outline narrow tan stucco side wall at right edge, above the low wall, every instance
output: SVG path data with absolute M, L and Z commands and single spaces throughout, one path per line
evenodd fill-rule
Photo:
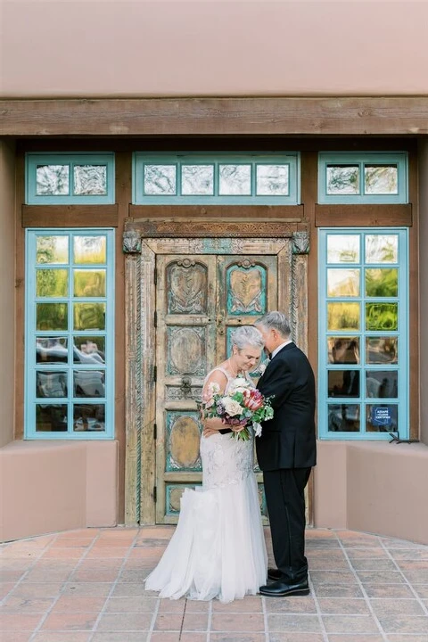
M 419 142 L 419 314 L 421 391 L 428 390 L 428 141 Z M 421 440 L 428 446 L 428 395 L 421 394 Z

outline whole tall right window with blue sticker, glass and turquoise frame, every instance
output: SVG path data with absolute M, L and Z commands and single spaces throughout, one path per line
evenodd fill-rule
M 319 435 L 407 438 L 407 230 L 319 230 L 319 260 Z

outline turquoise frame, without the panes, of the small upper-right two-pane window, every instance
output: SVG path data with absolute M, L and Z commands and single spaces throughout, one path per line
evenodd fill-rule
M 365 194 L 364 166 L 365 165 L 397 165 L 398 193 L 396 194 Z M 327 166 L 328 165 L 358 165 L 359 192 L 358 194 L 328 194 Z M 408 161 L 407 152 L 320 152 L 318 154 L 318 203 L 320 204 L 388 204 L 408 202 Z

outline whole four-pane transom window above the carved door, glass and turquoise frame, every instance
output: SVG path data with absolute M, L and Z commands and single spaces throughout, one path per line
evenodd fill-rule
M 134 203 L 299 202 L 299 156 L 136 152 Z

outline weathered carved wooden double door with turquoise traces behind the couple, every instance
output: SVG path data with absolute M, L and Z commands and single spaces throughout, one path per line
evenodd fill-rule
M 229 354 L 237 326 L 277 308 L 277 260 L 276 254 L 156 257 L 158 523 L 176 523 L 183 490 L 202 481 L 196 402 L 203 380 Z

